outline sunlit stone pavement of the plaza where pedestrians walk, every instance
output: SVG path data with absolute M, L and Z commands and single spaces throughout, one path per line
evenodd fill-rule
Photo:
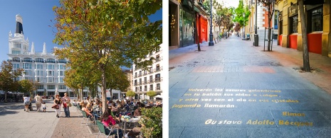
M 57 118 L 51 108 L 53 100 L 45 102 L 46 113 L 37 113 L 34 103 L 34 110 L 29 113 L 23 111 L 23 103 L 0 103 L 0 137 L 97 137 L 81 124 L 82 117 L 78 117 L 75 107 L 70 110 L 70 118 Z M 61 116 L 64 116 L 63 112 Z

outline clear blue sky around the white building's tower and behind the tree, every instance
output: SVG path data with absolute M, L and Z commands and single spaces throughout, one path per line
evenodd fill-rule
M 10 0 L 0 4 L 0 61 L 8 59 L 9 31 L 14 35 L 16 30 L 16 14 L 23 18 L 24 38 L 29 40 L 29 51 L 34 42 L 35 51 L 43 51 L 43 42 L 46 42 L 47 52 L 53 52 L 53 47 L 61 47 L 53 43 L 53 6 L 59 6 L 55 0 Z M 162 9 L 150 16 L 151 21 L 162 20 Z M 50 27 L 51 26 L 51 27 Z

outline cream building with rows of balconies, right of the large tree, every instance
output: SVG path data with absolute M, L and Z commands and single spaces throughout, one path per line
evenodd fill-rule
M 143 60 L 149 60 L 154 57 L 152 66 L 149 66 L 147 70 L 138 69 L 135 64 L 133 64 L 133 80 L 132 84 L 134 91 L 136 93 L 136 98 L 139 99 L 149 99 L 147 96 L 147 91 L 155 91 L 157 95 L 162 95 L 162 47 L 156 52 L 151 52 L 145 56 Z

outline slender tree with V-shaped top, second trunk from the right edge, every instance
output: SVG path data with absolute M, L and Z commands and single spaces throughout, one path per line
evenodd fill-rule
M 258 0 L 268 11 L 268 51 L 270 51 L 271 47 L 271 21 L 273 20 L 273 13 L 275 11 L 275 1 L 276 0 Z

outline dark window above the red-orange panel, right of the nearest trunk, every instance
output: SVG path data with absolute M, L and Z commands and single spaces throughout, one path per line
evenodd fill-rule
M 323 31 L 323 7 L 308 11 L 308 31 Z

